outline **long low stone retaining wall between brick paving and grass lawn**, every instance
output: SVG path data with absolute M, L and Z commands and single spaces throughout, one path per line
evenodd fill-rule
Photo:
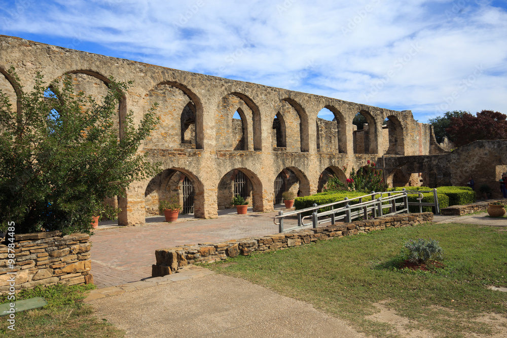
M 309 244 L 318 240 L 369 233 L 387 228 L 415 226 L 429 222 L 433 213 L 412 213 L 387 216 L 377 219 L 355 221 L 317 229 L 306 229 L 259 238 L 245 238 L 218 244 L 202 243 L 184 245 L 155 251 L 157 264 L 152 266 L 152 277 L 162 277 L 176 272 L 179 268 L 195 262 L 213 262 L 240 254 L 249 255 L 253 251 L 270 252 L 287 247 Z

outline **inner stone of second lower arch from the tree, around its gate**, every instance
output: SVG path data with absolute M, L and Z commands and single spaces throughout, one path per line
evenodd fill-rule
M 247 196 L 246 200 L 252 205 L 253 211 L 263 211 L 262 182 L 251 170 L 246 168 L 235 168 L 222 176 L 216 192 L 217 208 L 232 208 L 231 201 L 234 197 L 234 181 L 237 175 L 243 174 L 246 178 Z

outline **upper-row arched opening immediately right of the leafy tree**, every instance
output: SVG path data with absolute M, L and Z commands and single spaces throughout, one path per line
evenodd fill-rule
M 186 86 L 172 81 L 155 85 L 146 95 L 148 110 L 157 103 L 160 124 L 144 140 L 147 148 L 202 149 L 202 104 Z

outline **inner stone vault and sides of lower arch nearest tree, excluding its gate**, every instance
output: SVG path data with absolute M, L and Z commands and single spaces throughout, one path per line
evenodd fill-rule
M 194 217 L 204 217 L 204 186 L 201 180 L 191 171 L 172 167 L 165 169 L 153 177 L 144 190 L 144 208 L 147 215 L 158 215 L 159 201 L 171 194 L 179 197 L 183 205 L 183 180 L 187 177 L 194 187 Z

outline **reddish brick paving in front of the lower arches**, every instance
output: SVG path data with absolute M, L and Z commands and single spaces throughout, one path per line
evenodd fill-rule
M 273 223 L 278 211 L 237 215 L 235 209 L 228 209 L 220 213 L 215 219 L 186 216 L 173 223 L 161 222 L 163 217 L 148 218 L 150 222 L 139 227 L 101 222 L 90 238 L 94 283 L 103 288 L 151 277 L 157 249 L 278 233 Z M 285 228 L 296 225 L 296 219 L 285 220 Z

